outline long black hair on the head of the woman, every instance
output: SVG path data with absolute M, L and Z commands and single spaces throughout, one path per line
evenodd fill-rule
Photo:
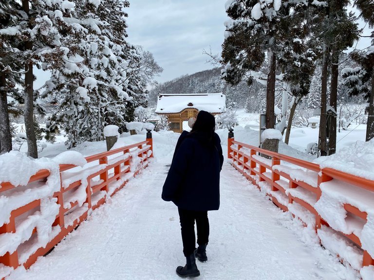
M 190 135 L 198 135 L 199 140 L 204 143 L 212 144 L 214 130 L 216 128 L 216 119 L 212 114 L 206 111 L 199 111 L 196 122 L 192 126 Z

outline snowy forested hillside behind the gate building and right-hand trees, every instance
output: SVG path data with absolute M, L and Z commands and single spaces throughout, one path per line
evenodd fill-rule
M 342 53 L 339 58 L 339 68 L 354 68 L 355 62 L 347 55 Z M 265 67 L 265 66 L 264 66 Z M 157 96 L 159 94 L 183 94 L 183 93 L 214 93 L 223 92 L 226 95 L 227 107 L 229 108 L 246 108 L 247 112 L 263 112 L 266 105 L 266 77 L 261 83 L 261 79 L 255 79 L 252 85 L 248 85 L 245 81 L 237 86 L 230 86 L 221 78 L 222 68 L 213 68 L 196 72 L 191 75 L 184 75 L 174 80 L 157 85 L 149 92 L 149 105 L 155 106 Z M 280 74 L 280 73 L 277 73 Z M 321 65 L 317 62 L 317 67 L 312 77 L 309 93 L 299 102 L 299 108 L 302 110 L 312 110 L 320 105 L 320 78 Z M 330 84 L 328 84 L 328 91 Z M 276 105 L 281 107 L 282 84 L 280 81 L 276 87 Z M 343 85 L 341 75 L 338 78 L 338 104 L 359 104 L 363 102 L 359 96 L 350 96 L 348 88 Z

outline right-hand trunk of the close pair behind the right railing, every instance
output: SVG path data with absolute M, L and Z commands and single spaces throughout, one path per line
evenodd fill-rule
M 337 111 L 337 79 L 339 76 L 338 63 L 339 52 L 334 50 L 331 56 L 330 106 L 334 108 L 335 112 Z M 329 137 L 330 140 L 328 154 L 332 155 L 335 154 L 337 150 L 337 117 L 332 115 L 330 118 L 330 135 L 327 135 L 327 137 Z

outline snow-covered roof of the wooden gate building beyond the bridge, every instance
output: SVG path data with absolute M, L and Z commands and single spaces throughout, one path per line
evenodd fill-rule
M 226 96 L 222 93 L 160 94 L 156 113 L 180 113 L 186 108 L 223 113 L 226 111 Z

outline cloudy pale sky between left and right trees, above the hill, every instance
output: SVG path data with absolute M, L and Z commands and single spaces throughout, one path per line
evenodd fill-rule
M 166 82 L 214 66 L 203 49 L 221 53 L 226 0 L 130 0 L 128 41 L 153 53 Z

